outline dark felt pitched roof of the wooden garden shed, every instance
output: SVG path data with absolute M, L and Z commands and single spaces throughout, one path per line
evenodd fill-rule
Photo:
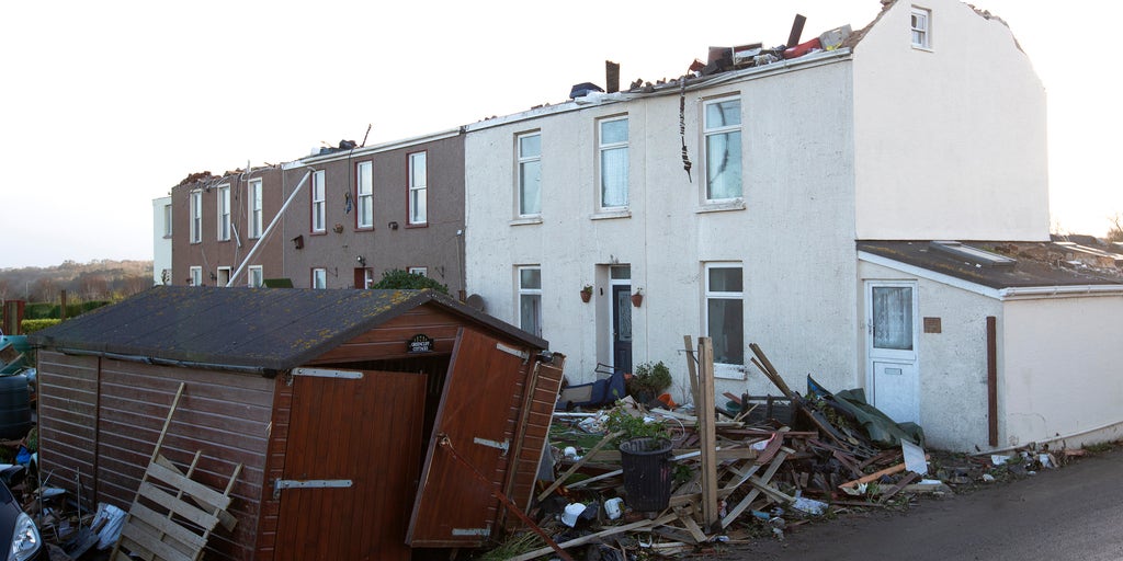
M 433 291 L 156 286 L 33 333 L 40 347 L 153 364 L 295 368 L 423 304 L 528 346 L 549 343 Z

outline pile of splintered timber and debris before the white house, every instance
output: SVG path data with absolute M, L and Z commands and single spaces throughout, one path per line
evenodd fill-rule
M 919 426 L 894 423 L 866 404 L 860 389 L 832 394 L 807 377 L 807 392 L 793 392 L 756 344 L 754 365 L 782 395 L 727 393 L 724 407 L 704 406 L 713 401 L 707 344 L 699 340 L 691 369 L 697 414 L 631 396 L 606 410 L 557 412 L 556 460 L 544 477 L 553 482 L 542 482 L 529 513 L 539 541 L 523 536 L 519 548 L 504 544 L 484 559 L 705 553 L 782 540 L 787 528 L 847 511 L 906 508 L 919 495 L 953 494 L 1069 458 L 1048 449 L 983 458 L 925 453 Z M 664 438 L 669 445 L 638 460 L 647 471 L 637 475 L 637 460 L 630 468 L 630 454 L 620 451 L 629 438 Z

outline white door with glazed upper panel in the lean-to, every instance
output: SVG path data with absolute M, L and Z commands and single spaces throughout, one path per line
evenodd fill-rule
M 866 282 L 869 403 L 898 423 L 920 422 L 916 283 Z

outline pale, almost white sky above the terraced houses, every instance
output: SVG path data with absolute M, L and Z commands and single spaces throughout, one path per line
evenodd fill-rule
M 1123 2 L 978 0 L 1049 101 L 1054 229 L 1102 236 Z M 1078 6 L 1078 7 L 1077 7 Z M 194 172 L 298 159 L 567 100 L 573 84 L 685 73 L 707 47 L 780 45 L 877 16 L 878 0 L 654 2 L 10 1 L 0 4 L 0 268 L 152 259 L 152 200 Z M 1090 21 L 1090 22 L 1089 22 Z

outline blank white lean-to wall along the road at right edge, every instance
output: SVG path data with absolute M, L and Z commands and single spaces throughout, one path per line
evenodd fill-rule
M 1006 302 L 1003 444 L 1075 435 L 1066 443 L 1076 448 L 1123 436 L 1120 318 L 1123 295 Z

